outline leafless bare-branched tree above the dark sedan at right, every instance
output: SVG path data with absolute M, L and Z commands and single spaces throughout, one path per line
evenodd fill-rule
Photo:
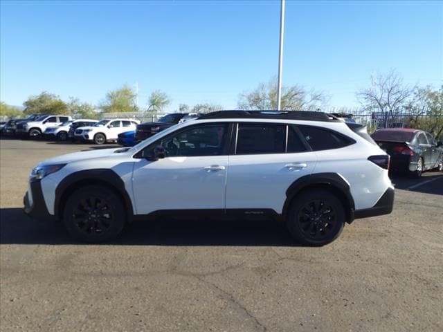
M 377 75 L 374 84 L 369 89 L 356 93 L 356 97 L 365 109 L 373 111 L 373 108 L 393 118 L 402 107 L 406 106 L 408 98 L 412 95 L 415 87 L 403 83 L 403 78 L 395 70 L 386 75 Z

